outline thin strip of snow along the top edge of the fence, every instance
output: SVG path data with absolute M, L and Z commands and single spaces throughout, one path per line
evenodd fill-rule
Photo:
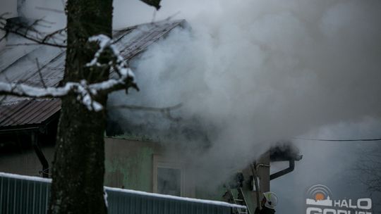
M 47 179 L 47 178 L 42 178 L 42 177 L 26 176 L 26 175 L 16 175 L 16 174 L 11 174 L 11 173 L 6 173 L 6 172 L 0 172 L 0 177 L 9 177 L 9 178 L 14 178 L 14 179 L 31 180 L 31 181 L 46 182 L 46 183 L 52 182 L 52 179 Z M 186 198 L 186 197 L 180 197 L 180 196 L 155 194 L 155 193 L 150 193 L 150 192 L 146 192 L 146 191 L 136 191 L 136 190 L 131 190 L 131 189 L 119 189 L 119 188 L 114 188 L 114 187 L 104 187 L 104 189 L 106 189 L 108 191 L 119 191 L 119 192 L 127 193 L 127 194 L 138 194 L 138 195 L 142 195 L 142 196 L 150 196 L 150 197 L 161 198 L 161 199 L 188 201 L 188 202 L 194 202 L 194 203 L 207 203 L 207 204 L 212 204 L 212 205 L 217 205 L 217 206 L 227 206 L 227 207 L 231 207 L 231 208 L 246 208 L 246 206 L 236 205 L 236 204 L 232 204 L 232 203 L 226 203 L 223 201 L 192 199 L 192 198 Z

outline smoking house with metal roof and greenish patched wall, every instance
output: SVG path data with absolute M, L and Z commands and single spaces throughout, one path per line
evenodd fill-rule
M 12 20 L 7 24 L 8 27 L 12 27 Z M 123 58 L 133 66 L 152 44 L 165 39 L 174 29 L 189 28 L 187 25 L 185 20 L 165 20 L 137 25 L 116 30 L 114 41 Z M 8 42 L 12 41 L 22 43 L 23 38 L 13 36 L 8 39 Z M 5 45 L 0 50 L 0 61 L 1 82 L 23 82 L 35 87 L 56 87 L 63 78 L 65 50 L 41 44 Z M 0 100 L 0 171 L 49 178 L 61 101 L 15 96 L 1 96 Z M 238 173 L 231 172 L 230 182 L 227 179 L 225 182 L 219 181 L 215 187 L 210 188 L 207 187 L 209 184 L 196 179 L 197 165 L 190 164 L 188 158 L 183 156 L 189 145 L 167 143 L 165 140 L 145 137 L 141 133 L 134 135 L 133 130 L 136 129 L 133 127 L 130 129 L 132 131 L 126 134 L 123 122 L 119 122 L 117 118 L 109 120 L 109 127 L 105 133 L 104 184 L 106 186 L 171 196 L 228 201 L 247 206 L 249 213 L 253 213 L 259 205 L 260 193 L 270 191 L 270 180 L 291 172 L 294 170 L 295 161 L 301 160 L 298 152 L 295 153 L 296 150 L 290 146 L 275 146 L 263 153 L 260 158 L 250 157 L 250 160 L 246 160 L 250 164 L 246 168 L 241 168 Z M 180 132 L 193 137 L 198 136 L 196 141 L 198 145 L 193 146 L 202 148 L 201 152 L 210 148 L 207 137 L 203 138 L 202 132 L 198 132 L 198 129 L 188 130 L 190 131 L 180 130 Z M 289 168 L 270 175 L 272 161 L 288 161 Z M 30 179 L 12 176 L 0 175 L 1 188 L 10 187 L 12 179 L 15 179 L 15 183 L 12 184 L 15 188 L 18 180 Z M 221 179 L 224 180 L 219 178 Z M 37 181 L 43 183 L 39 183 L 42 185 L 41 188 L 45 188 L 47 180 Z M 5 186 L 6 184 L 8 186 Z M 4 192 L 1 191 L 2 194 Z M 16 199 L 15 192 L 13 196 Z M 44 195 L 44 199 L 47 200 L 47 197 Z M 0 200 L 0 210 L 4 210 L 5 213 L 10 211 L 4 206 L 8 204 L 6 200 L 10 199 L 2 197 Z M 43 210 L 40 209 L 40 212 Z

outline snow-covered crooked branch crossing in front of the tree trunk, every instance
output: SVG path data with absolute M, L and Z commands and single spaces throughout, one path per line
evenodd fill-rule
M 32 87 L 27 84 L 0 82 L 0 95 L 27 96 L 33 98 L 59 98 L 68 94 L 76 94 L 78 101 L 83 103 L 90 111 L 101 111 L 103 106 L 93 99 L 99 93 L 108 94 L 120 89 L 133 87 L 138 90 L 135 83 L 133 72 L 123 61 L 119 51 L 116 49 L 112 40 L 104 35 L 90 37 L 89 42 L 98 42 L 99 49 L 95 57 L 86 66 L 102 66 L 98 62 L 99 56 L 105 49 L 111 49 L 111 60 L 108 66 L 116 70 L 119 74 L 118 79 L 104 80 L 87 84 L 86 80 L 80 82 L 66 82 L 63 87 Z

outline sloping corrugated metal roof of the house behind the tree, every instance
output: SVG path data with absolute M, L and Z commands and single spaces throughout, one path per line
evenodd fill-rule
M 145 51 L 185 20 L 161 21 L 114 31 L 114 41 L 126 61 Z M 20 38 L 18 38 L 20 39 Z M 15 42 L 20 43 L 19 40 Z M 10 42 L 8 42 L 9 44 Z M 0 51 L 0 82 L 22 82 L 35 87 L 55 87 L 63 78 L 65 49 L 52 46 L 7 46 Z M 37 68 L 40 66 L 40 73 Z M 59 99 L 0 96 L 0 130 L 39 125 L 59 113 Z

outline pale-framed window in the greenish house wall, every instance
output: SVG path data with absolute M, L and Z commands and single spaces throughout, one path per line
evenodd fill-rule
M 181 196 L 181 170 L 158 167 L 157 193 Z

